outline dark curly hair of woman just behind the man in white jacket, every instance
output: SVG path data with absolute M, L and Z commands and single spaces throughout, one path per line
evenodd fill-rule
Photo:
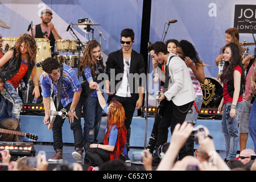
M 188 56 L 193 63 L 203 65 L 203 61 L 200 60 L 199 54 L 191 42 L 188 42 L 188 40 L 180 40 L 178 47 L 181 48 L 184 56 Z

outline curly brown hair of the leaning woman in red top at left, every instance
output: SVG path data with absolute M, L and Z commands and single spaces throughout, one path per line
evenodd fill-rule
M 37 50 L 35 39 L 29 34 L 20 35 L 16 40 L 14 47 L 11 48 L 16 50 L 16 57 L 20 57 L 22 55 L 20 52 L 20 46 L 22 43 L 24 43 L 24 46 L 27 48 L 28 60 L 32 63 L 32 61 L 35 61 L 36 59 Z

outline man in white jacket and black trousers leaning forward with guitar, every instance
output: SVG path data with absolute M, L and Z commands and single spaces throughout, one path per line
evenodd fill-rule
M 160 104 L 151 133 L 156 139 L 155 159 L 157 159 L 159 148 L 167 142 L 168 127 L 171 126 L 172 133 L 177 123 L 184 122 L 188 110 L 193 105 L 196 93 L 187 65 L 179 56 L 169 53 L 163 42 L 151 44 L 148 51 L 152 57 L 152 73 L 158 74 L 159 79 L 164 82 L 164 92 L 160 93 L 157 98 Z M 165 73 L 158 67 L 158 63 L 166 65 Z M 187 141 L 189 146 L 193 146 L 191 145 L 193 142 L 193 138 L 189 138 Z M 181 149 L 179 159 L 187 155 L 187 150 L 189 150 L 186 147 L 187 143 Z

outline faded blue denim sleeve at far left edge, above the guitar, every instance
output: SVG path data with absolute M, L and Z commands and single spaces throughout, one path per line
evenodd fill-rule
M 6 106 L 9 118 L 19 119 L 20 111 L 23 105 L 22 100 L 11 83 L 5 82 L 3 87 L 4 89 L 2 95 L 6 98 Z

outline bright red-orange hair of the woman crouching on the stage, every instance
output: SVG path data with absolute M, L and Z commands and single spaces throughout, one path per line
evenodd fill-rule
M 117 101 L 112 101 L 109 104 L 110 109 L 108 111 L 108 125 L 115 125 L 117 128 L 125 126 L 125 109 L 122 104 Z

